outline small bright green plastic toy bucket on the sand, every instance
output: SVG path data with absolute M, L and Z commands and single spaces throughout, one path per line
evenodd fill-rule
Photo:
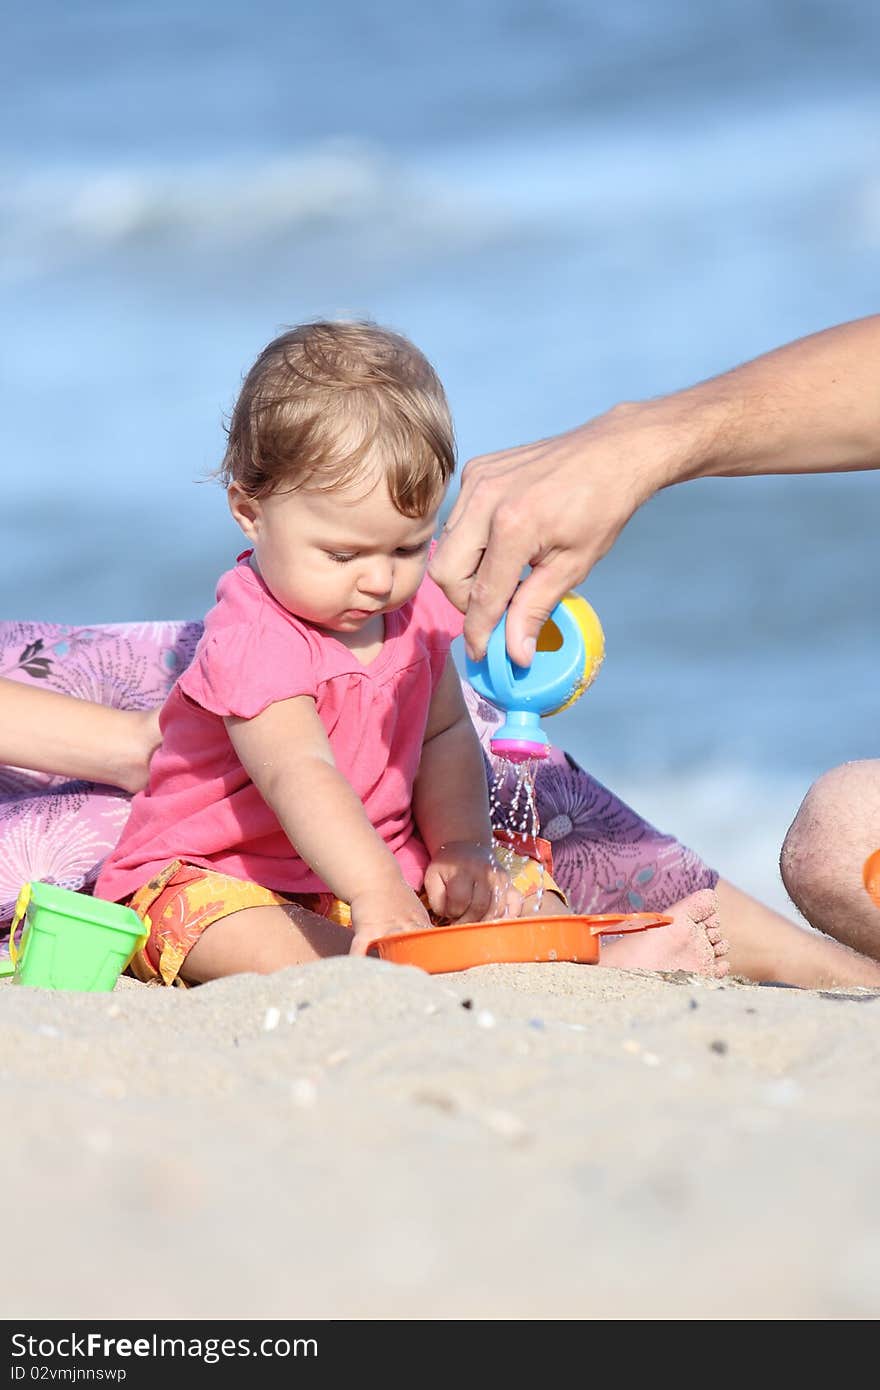
M 15 931 L 24 922 L 21 942 Z M 113 990 L 147 938 L 136 912 L 49 883 L 26 883 L 10 931 L 14 984 L 40 990 Z

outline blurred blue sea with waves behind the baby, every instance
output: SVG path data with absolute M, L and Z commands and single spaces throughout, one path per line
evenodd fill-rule
M 0 617 L 200 617 L 224 416 L 367 316 L 462 461 L 880 309 L 876 0 L 35 0 L 3 21 Z M 551 737 L 784 910 L 784 831 L 877 756 L 877 474 L 673 488 L 584 587 Z

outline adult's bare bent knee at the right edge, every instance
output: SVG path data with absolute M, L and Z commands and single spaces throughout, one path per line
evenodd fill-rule
M 880 848 L 880 760 L 844 763 L 813 783 L 780 855 L 785 890 L 806 920 L 880 956 L 880 913 L 862 865 Z

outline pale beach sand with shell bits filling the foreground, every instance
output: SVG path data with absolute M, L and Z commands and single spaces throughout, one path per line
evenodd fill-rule
M 880 991 L 0 987 L 10 1318 L 873 1319 Z

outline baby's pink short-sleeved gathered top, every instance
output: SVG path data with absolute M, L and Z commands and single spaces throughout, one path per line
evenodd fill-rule
M 420 888 L 428 855 L 412 815 L 431 696 L 462 614 L 432 580 L 385 616 L 380 655 L 364 666 L 342 642 L 288 613 L 247 563 L 221 575 L 189 667 L 161 712 L 163 744 L 95 891 L 121 901 L 174 859 L 277 892 L 327 885 L 291 847 L 242 767 L 224 719 L 310 695 L 336 766 Z M 309 788 L 303 788 L 303 796 Z M 327 827 L 332 834 L 332 826 Z

